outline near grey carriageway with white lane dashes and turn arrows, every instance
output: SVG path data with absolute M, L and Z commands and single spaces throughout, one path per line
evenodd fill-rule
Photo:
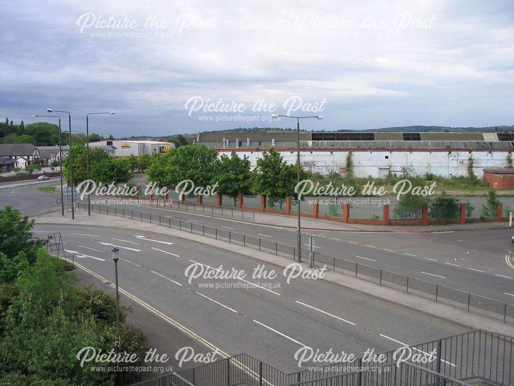
M 294 355 L 305 345 L 361 356 L 368 348 L 381 352 L 466 330 L 324 280 L 296 278 L 288 284 L 276 266 L 190 240 L 86 225 L 36 228 L 40 237 L 62 232 L 68 253 L 108 280 L 114 279 L 110 251 L 116 244 L 123 290 L 223 352 L 245 352 L 283 371 L 300 370 Z M 261 275 L 252 277 L 259 267 Z M 203 275 L 188 283 L 192 269 Z M 272 270 L 277 276 L 270 278 Z

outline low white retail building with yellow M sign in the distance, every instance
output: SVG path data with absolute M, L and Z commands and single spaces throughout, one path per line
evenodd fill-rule
M 115 157 L 128 157 L 132 154 L 139 157 L 141 154 L 167 153 L 175 147 L 175 144 L 159 141 L 118 141 L 113 139 L 112 141 L 90 142 L 89 146 L 101 147 Z

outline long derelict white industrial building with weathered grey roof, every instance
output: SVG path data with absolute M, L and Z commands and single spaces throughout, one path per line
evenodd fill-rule
M 196 143 L 230 156 L 248 156 L 252 168 L 263 151 L 274 147 L 288 163 L 296 163 L 296 132 L 199 133 Z M 401 174 L 466 176 L 468 166 L 483 177 L 484 168 L 512 167 L 514 137 L 510 133 L 369 133 L 302 132 L 300 163 L 306 170 L 346 173 L 348 153 L 357 177 Z

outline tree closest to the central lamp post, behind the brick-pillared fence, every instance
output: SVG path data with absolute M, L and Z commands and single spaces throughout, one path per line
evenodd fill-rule
M 300 180 L 308 178 L 309 174 L 300 169 Z M 252 190 L 272 198 L 297 197 L 295 186 L 298 183 L 297 165 L 289 165 L 274 148 L 263 152 L 263 157 L 257 160 L 253 170 Z

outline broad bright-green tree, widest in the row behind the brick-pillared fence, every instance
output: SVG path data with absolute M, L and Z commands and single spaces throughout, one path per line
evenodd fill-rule
M 195 187 L 206 188 L 214 177 L 217 154 L 203 145 L 181 146 L 154 159 L 146 174 L 160 187 L 172 188 L 180 181 L 191 180 Z

